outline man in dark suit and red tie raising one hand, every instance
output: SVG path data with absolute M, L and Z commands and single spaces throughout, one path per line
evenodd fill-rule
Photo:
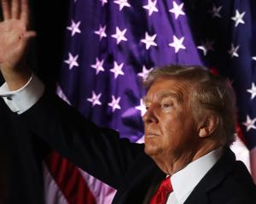
M 35 36 L 26 30 L 27 0 L 3 0 L 2 6 L 4 101 L 32 135 L 117 189 L 113 203 L 256 201 L 253 179 L 228 147 L 236 113 L 229 82 L 201 67 L 151 71 L 145 82 L 145 144 L 131 144 L 44 90 L 25 63 L 27 41 Z

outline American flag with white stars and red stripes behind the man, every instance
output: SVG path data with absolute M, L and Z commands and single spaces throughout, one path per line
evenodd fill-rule
M 204 65 L 228 77 L 236 89 L 233 150 L 245 157 L 250 151 L 254 173 L 255 8 L 245 0 L 72 0 L 57 92 L 96 124 L 141 142 L 141 82 L 148 71 L 168 64 Z M 56 153 L 44 170 L 48 203 L 110 203 L 113 198 L 115 190 Z

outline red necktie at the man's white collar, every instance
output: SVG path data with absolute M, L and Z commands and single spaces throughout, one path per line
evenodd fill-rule
M 166 204 L 168 195 L 172 192 L 170 176 L 166 177 L 160 184 L 158 190 L 151 198 L 150 204 Z

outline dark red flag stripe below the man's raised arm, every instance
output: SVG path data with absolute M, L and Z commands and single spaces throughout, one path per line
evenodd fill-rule
M 77 167 L 54 150 L 46 156 L 44 161 L 69 204 L 96 204 L 94 196 Z

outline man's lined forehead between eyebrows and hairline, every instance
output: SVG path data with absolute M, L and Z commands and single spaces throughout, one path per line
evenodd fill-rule
M 160 77 L 148 89 L 146 100 L 165 97 L 174 97 L 178 100 L 188 99 L 190 88 L 189 82 L 171 77 Z

